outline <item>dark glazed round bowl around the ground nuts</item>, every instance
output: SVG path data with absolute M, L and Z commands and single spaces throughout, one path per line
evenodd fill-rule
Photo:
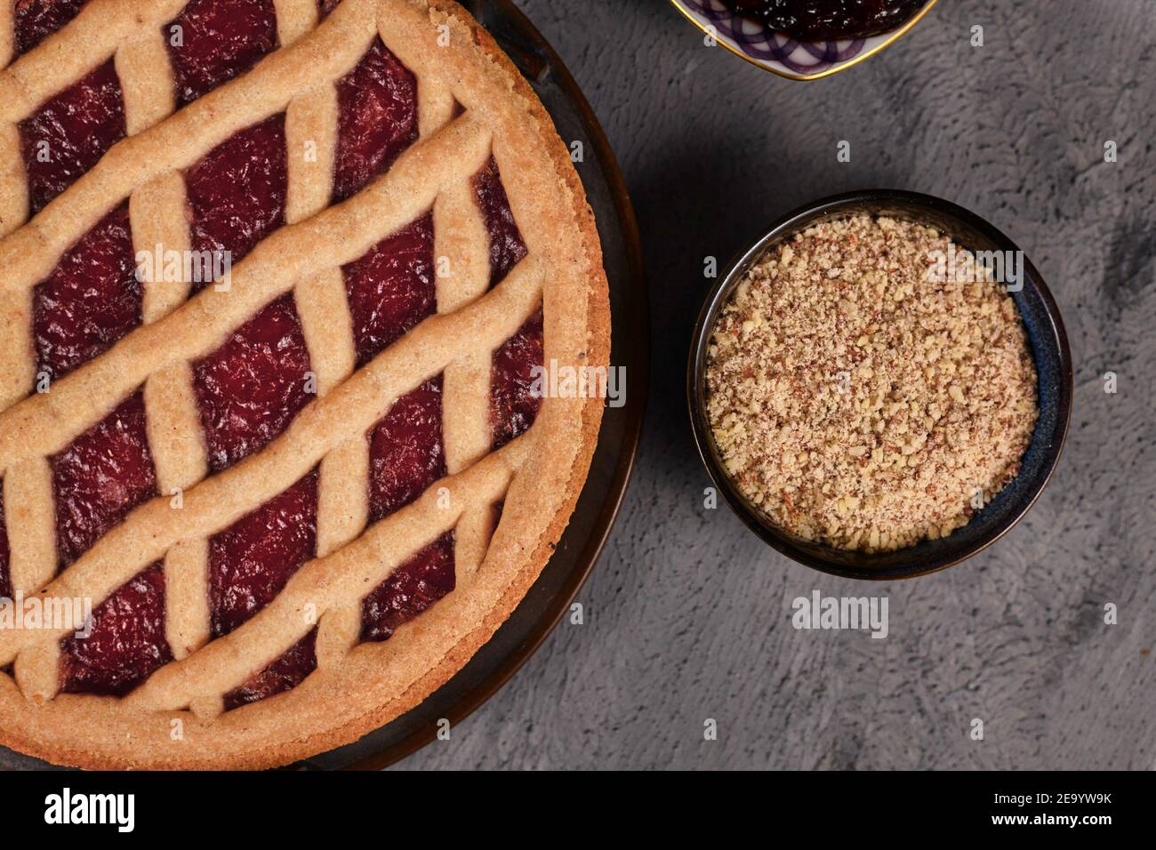
M 971 522 L 939 540 L 924 540 L 897 552 L 846 552 L 803 540 L 776 526 L 732 483 L 714 445 L 706 416 L 706 348 L 716 318 L 731 291 L 762 256 L 780 242 L 821 221 L 855 213 L 914 220 L 950 236 L 971 251 L 1017 251 L 1015 243 L 975 213 L 931 195 L 892 190 L 852 192 L 817 201 L 776 222 L 748 247 L 711 289 L 695 325 L 687 374 L 690 421 L 698 453 L 727 503 L 747 526 L 787 557 L 847 578 L 911 578 L 953 567 L 999 540 L 1039 497 L 1064 449 L 1072 415 L 1072 353 L 1055 301 L 1039 272 L 1024 260 L 1024 280 L 1013 293 L 1023 317 L 1039 380 L 1039 420 L 1020 474 Z

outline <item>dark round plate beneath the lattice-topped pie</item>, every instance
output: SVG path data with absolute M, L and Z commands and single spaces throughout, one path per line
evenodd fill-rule
M 497 39 L 538 93 L 568 142 L 598 220 L 610 281 L 612 365 L 625 367 L 623 407 L 607 407 L 586 487 L 558 548 L 529 593 L 462 670 L 413 711 L 361 740 L 298 762 L 299 769 L 377 769 L 433 739 L 439 718 L 457 725 L 512 677 L 546 640 L 593 568 L 633 470 L 650 367 L 650 312 L 633 210 L 609 142 L 570 72 L 510 0 L 462 2 Z M 52 766 L 0 747 L 0 768 Z

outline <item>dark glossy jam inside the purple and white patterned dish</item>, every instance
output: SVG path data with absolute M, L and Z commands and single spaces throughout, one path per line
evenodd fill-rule
M 722 0 L 735 12 L 805 42 L 866 38 L 898 29 L 927 0 Z

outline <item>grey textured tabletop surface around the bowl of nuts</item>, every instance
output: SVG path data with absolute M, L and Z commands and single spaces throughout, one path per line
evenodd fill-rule
M 666 0 L 519 1 L 633 198 L 650 411 L 585 624 L 400 767 L 1156 768 L 1156 3 L 942 0 L 879 57 L 792 83 L 704 47 Z M 947 572 L 865 587 L 703 509 L 682 364 L 704 256 L 874 186 L 955 200 L 1020 243 L 1064 312 L 1076 391 L 1060 470 L 1015 531 Z M 814 589 L 887 596 L 890 635 L 793 629 L 791 600 Z

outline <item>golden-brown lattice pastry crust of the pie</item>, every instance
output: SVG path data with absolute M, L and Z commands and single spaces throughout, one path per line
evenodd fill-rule
M 351 741 L 422 702 L 490 638 L 538 577 L 598 435 L 598 399 L 546 398 L 528 431 L 491 451 L 491 353 L 541 308 L 547 363 L 606 364 L 609 354 L 599 239 L 566 148 L 465 10 L 447 0 L 343 0 L 319 22 L 314 0 L 276 0 L 280 46 L 176 110 L 161 27 L 183 6 L 90 0 L 10 64 L 12 3 L 0 12 L 0 65 L 7 64 L 0 72 L 0 475 L 12 584 L 25 596 L 98 605 L 149 563 L 164 563 L 175 660 L 123 697 L 59 692 L 66 630 L 0 630 L 0 742 L 89 768 L 283 764 Z M 361 192 L 328 206 L 335 81 L 376 36 L 417 80 L 418 139 Z M 28 219 L 16 125 L 110 57 L 126 136 Z M 146 283 L 139 327 L 50 392 L 35 392 L 31 293 L 69 246 L 124 199 L 135 245 L 187 246 L 180 172 L 281 112 L 288 146 L 314 139 L 320 155 L 316 163 L 289 157 L 286 224 L 234 267 L 231 288 L 186 300 L 187 290 Z M 527 256 L 487 290 L 488 236 L 468 182 L 491 155 Z M 437 315 L 355 369 L 339 269 L 430 210 L 435 253 L 457 269 L 437 281 Z M 317 397 L 264 450 L 209 474 L 190 364 L 290 291 Z M 449 474 L 366 526 L 365 435 L 392 400 L 439 374 Z M 58 572 L 47 459 L 140 387 L 164 495 Z M 252 619 L 210 640 L 206 540 L 314 467 L 318 557 Z M 183 490 L 179 510 L 168 495 L 173 488 Z M 455 589 L 391 640 L 358 642 L 366 590 L 450 530 Z M 224 694 L 313 622 L 313 673 L 289 690 L 223 710 Z

